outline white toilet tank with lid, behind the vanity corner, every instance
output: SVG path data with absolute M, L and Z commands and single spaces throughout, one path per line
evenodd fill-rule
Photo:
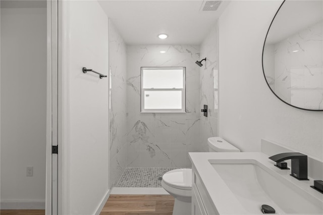
M 209 137 L 207 139 L 209 152 L 240 152 L 240 149 L 231 145 L 221 137 Z

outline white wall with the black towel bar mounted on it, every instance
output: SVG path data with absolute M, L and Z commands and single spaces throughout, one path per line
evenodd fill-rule
M 97 1 L 66 1 L 66 214 L 94 214 L 109 191 L 109 20 Z M 104 202 L 105 203 L 105 202 Z

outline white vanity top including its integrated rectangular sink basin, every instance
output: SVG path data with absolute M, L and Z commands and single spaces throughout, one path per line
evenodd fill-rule
M 323 194 L 280 170 L 260 152 L 190 152 L 193 185 L 209 214 L 323 214 Z M 316 179 L 319 180 L 319 179 Z M 213 211 L 213 212 L 212 212 Z

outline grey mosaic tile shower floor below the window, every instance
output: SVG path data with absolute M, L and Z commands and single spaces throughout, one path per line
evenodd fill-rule
M 116 187 L 161 187 L 161 177 L 179 168 L 132 168 L 123 172 Z

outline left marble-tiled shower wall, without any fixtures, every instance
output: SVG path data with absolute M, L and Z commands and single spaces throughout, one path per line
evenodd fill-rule
M 109 22 L 110 75 L 110 187 L 116 185 L 127 160 L 127 61 L 126 44 Z

